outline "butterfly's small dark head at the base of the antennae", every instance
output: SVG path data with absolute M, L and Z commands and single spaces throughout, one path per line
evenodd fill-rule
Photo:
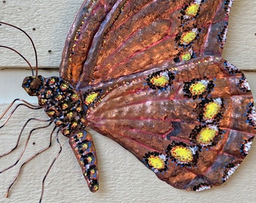
M 23 80 L 23 89 L 26 90 L 26 92 L 29 95 L 38 95 L 38 91 L 43 87 L 44 85 L 44 78 L 41 75 L 36 76 L 28 76 L 25 77 Z

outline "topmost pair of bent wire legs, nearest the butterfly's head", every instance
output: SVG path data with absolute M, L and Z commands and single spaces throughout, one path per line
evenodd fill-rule
M 26 108 L 30 108 L 30 109 L 40 109 L 41 106 L 39 105 L 32 105 L 29 102 L 26 102 L 23 99 L 20 98 L 15 98 L 13 102 L 11 102 L 10 105 L 8 105 L 8 108 L 5 109 L 5 111 L 2 113 L 2 115 L 0 116 L 0 120 L 2 120 L 3 117 L 5 117 L 5 114 L 8 113 L 8 111 L 10 110 L 10 108 L 14 105 L 15 102 L 23 102 L 21 104 L 18 104 L 14 107 L 14 109 L 11 111 L 11 113 L 8 115 L 7 119 L 5 120 L 4 124 L 2 124 L 2 126 L 0 126 L 0 129 L 2 129 L 2 127 L 4 127 L 6 125 L 6 123 L 8 123 L 8 120 L 10 120 L 11 116 L 14 114 L 14 112 L 17 110 L 17 108 L 19 108 L 20 106 L 25 106 Z

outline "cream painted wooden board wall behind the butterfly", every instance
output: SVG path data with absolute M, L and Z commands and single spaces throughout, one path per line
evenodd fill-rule
M 0 2 L 0 20 L 26 30 L 35 41 L 39 66 L 44 76 L 58 75 L 62 47 L 75 14 L 82 0 L 6 0 Z M 35 31 L 32 29 L 35 28 Z M 256 2 L 235 0 L 230 15 L 230 27 L 224 58 L 245 71 L 256 98 Z M 0 26 L 0 44 L 15 47 L 35 64 L 33 50 L 22 33 Z M 48 52 L 51 50 L 51 53 Z M 24 98 L 36 103 L 20 87 L 23 77 L 30 74 L 26 63 L 8 50 L 0 50 L 0 111 L 14 98 Z M 45 69 L 47 68 L 47 69 Z M 54 69 L 55 68 L 55 69 Z M 10 150 L 17 140 L 23 123 L 29 117 L 47 117 L 42 111 L 19 108 L 8 126 L 0 129 L 0 154 Z M 0 158 L 0 170 L 15 162 L 22 150 L 29 131 L 45 123 L 32 122 L 23 132 L 20 147 L 8 157 Z M 32 134 L 26 153 L 20 162 L 47 146 L 50 129 L 41 129 Z M 256 202 L 256 144 L 251 152 L 223 186 L 203 192 L 186 192 L 158 180 L 154 173 L 139 162 L 132 154 L 114 141 L 93 134 L 99 159 L 100 189 L 91 193 L 82 177 L 75 156 L 66 138 L 59 135 L 62 153 L 47 176 L 43 202 Z M 35 144 L 33 144 L 35 143 Z M 25 168 L 11 189 L 9 198 L 5 192 L 20 167 L 0 174 L 0 202 L 38 202 L 41 180 L 58 152 L 53 147 L 37 156 Z

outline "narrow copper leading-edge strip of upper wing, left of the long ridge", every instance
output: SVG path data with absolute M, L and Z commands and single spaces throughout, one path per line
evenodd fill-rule
M 97 43 L 96 33 L 99 31 L 99 27 L 105 24 L 105 17 L 115 2 L 118 1 L 88 0 L 83 2 L 62 51 L 62 61 L 59 66 L 62 79 L 69 81 L 74 86 L 78 82 L 84 62 L 87 58 L 92 57 L 91 55 L 96 54 L 89 54 L 90 49 L 99 43 L 99 41 Z M 94 38 L 96 39 L 94 40 Z

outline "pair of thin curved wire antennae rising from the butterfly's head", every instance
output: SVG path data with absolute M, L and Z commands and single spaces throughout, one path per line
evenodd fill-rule
M 9 24 L 9 23 L 5 23 L 5 22 L 0 21 L 0 26 L 1 26 L 2 24 L 6 25 L 6 26 L 11 26 L 11 27 L 13 27 L 14 29 L 20 30 L 21 32 L 23 32 L 23 33 L 29 38 L 29 41 L 31 42 L 32 47 L 33 47 L 33 49 L 34 49 L 34 53 L 35 53 L 35 75 L 38 75 L 38 54 L 37 54 L 37 52 L 36 52 L 35 44 L 34 44 L 34 41 L 32 40 L 32 38 L 30 38 L 29 34 L 26 33 L 23 29 L 20 29 L 20 28 L 17 27 L 17 26 L 14 26 L 14 25 L 11 25 L 11 24 Z M 28 60 L 26 60 L 24 56 L 22 56 L 19 52 L 17 52 L 17 50 L 14 50 L 13 48 L 11 48 L 11 47 L 6 47 L 6 46 L 0 46 L 0 47 L 5 47 L 5 48 L 7 48 L 7 49 L 9 49 L 9 50 L 12 50 L 12 51 L 14 51 L 15 53 L 19 54 L 19 55 L 29 64 L 29 67 L 31 68 L 31 71 L 32 71 L 32 75 L 34 75 L 34 71 L 33 71 L 32 65 L 30 65 L 30 63 L 28 62 Z

